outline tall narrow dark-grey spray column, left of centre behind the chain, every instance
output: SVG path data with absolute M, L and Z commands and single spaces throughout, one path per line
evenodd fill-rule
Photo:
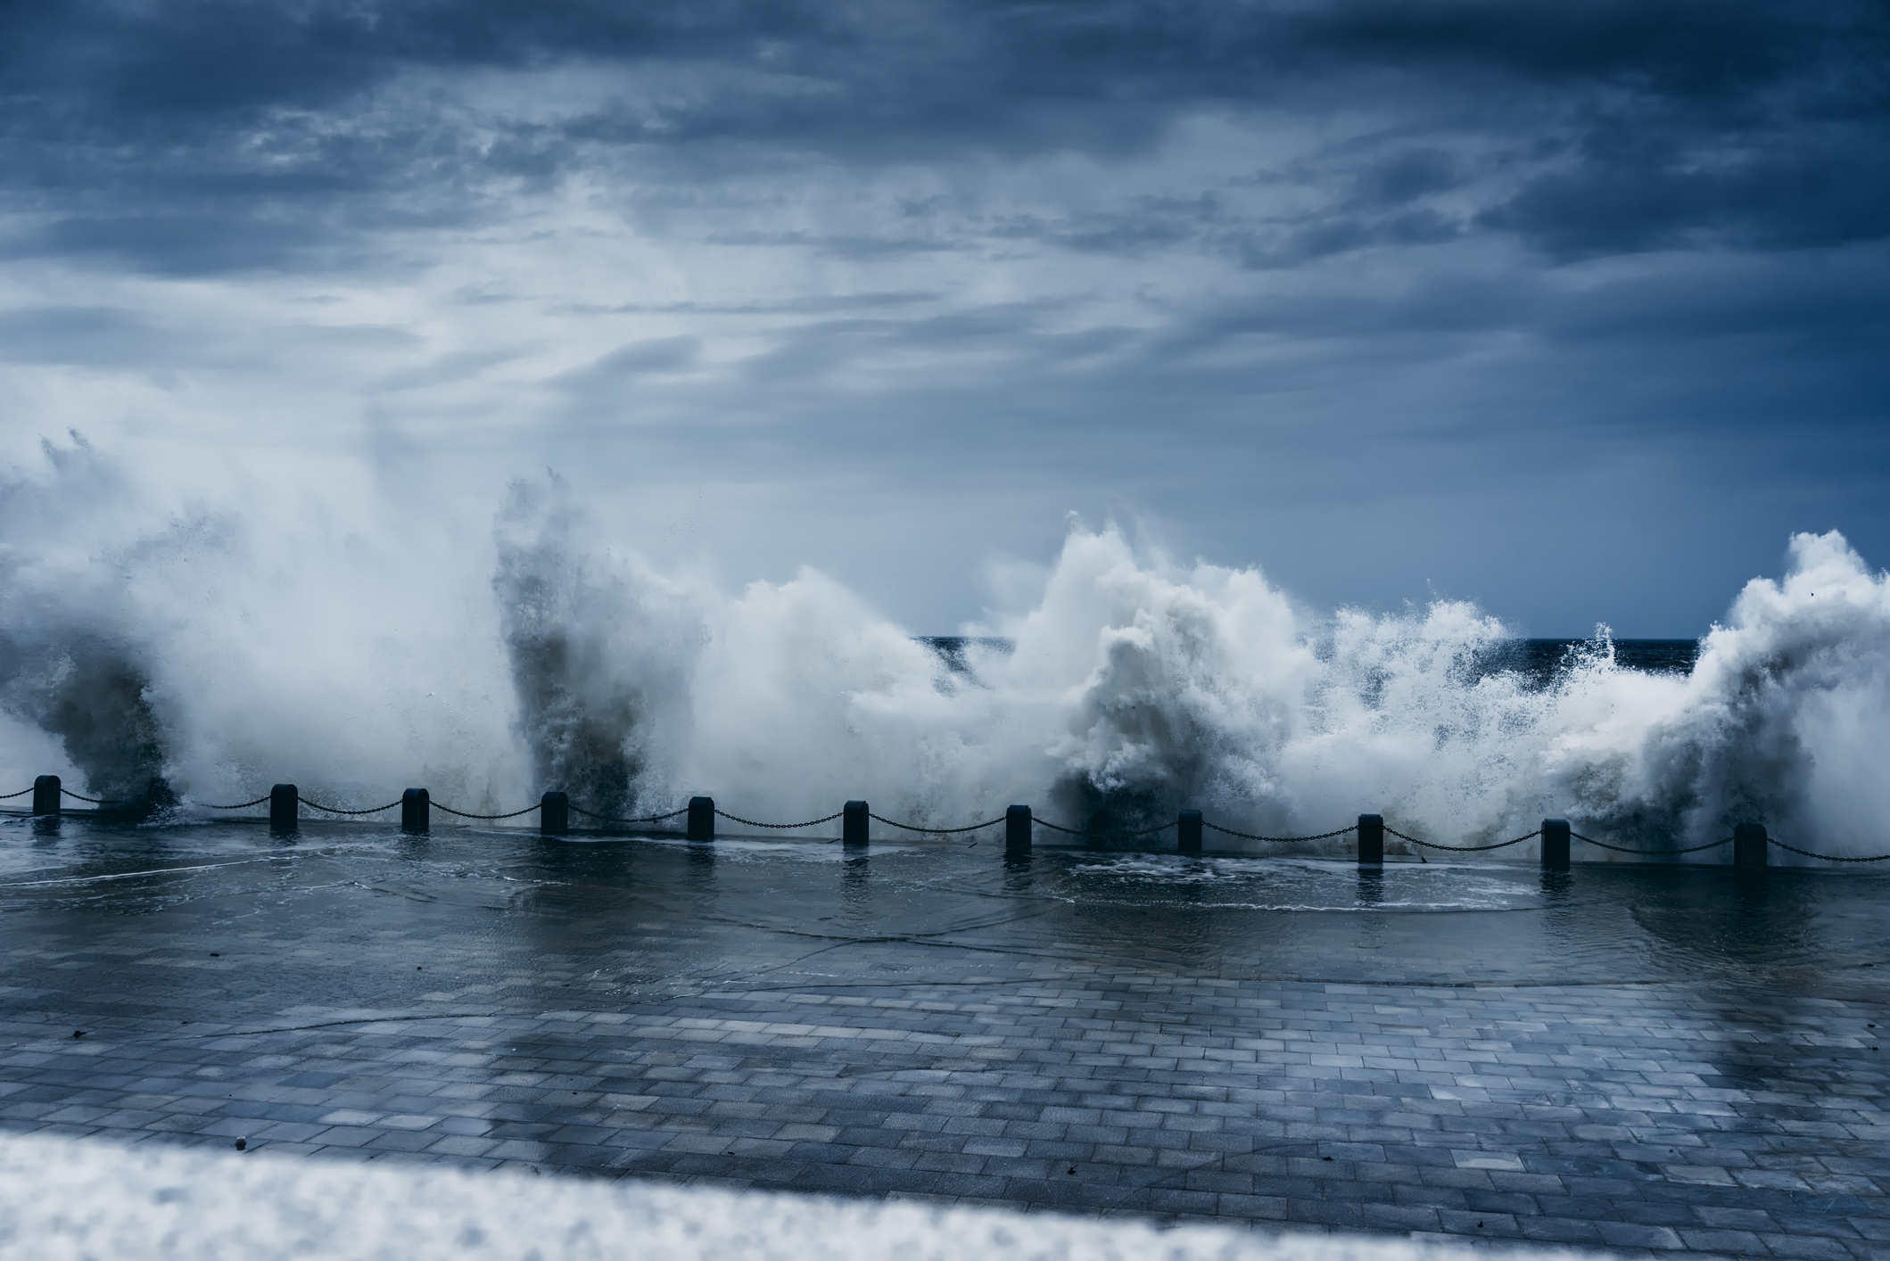
M 650 786 L 652 743 L 686 734 L 701 614 L 682 586 L 582 552 L 580 527 L 556 475 L 514 482 L 495 522 L 491 586 L 535 781 L 624 817 Z

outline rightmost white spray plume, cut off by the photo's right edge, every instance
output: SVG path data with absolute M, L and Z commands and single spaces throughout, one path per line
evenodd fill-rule
M 1890 579 L 1843 535 L 1794 535 L 1786 577 L 1746 584 L 1690 677 L 1627 673 L 1576 671 L 1548 745 L 1593 826 L 1697 845 L 1761 822 L 1807 849 L 1890 851 Z

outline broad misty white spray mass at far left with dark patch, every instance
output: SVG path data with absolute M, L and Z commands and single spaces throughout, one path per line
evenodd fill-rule
M 202 505 L 77 437 L 43 456 L 0 486 L 0 707 L 70 766 L 15 728 L 17 773 L 134 800 L 163 775 L 187 802 L 293 779 L 355 807 L 404 785 L 474 807 L 525 790 L 457 537 L 427 556 L 410 520 L 370 535 L 333 482 L 297 499 L 229 478 Z

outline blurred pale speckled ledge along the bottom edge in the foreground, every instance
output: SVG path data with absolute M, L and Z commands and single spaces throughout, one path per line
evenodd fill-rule
M 0 1252 L 38 1261 L 1457 1261 L 1503 1255 L 1227 1227 L 1157 1231 L 805 1195 L 0 1136 Z M 1569 1257 L 1531 1252 L 1531 1257 Z

